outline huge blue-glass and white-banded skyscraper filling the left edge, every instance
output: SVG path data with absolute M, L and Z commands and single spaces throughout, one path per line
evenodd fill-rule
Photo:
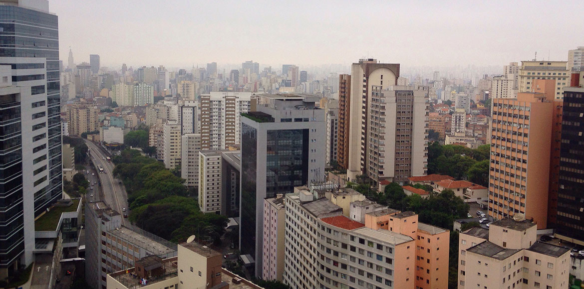
M 62 198 L 59 42 L 48 1 L 0 2 L 0 63 L 13 88 L 0 97 L 0 276 L 33 262 L 34 218 Z M 10 32 L 8 32 L 10 31 Z M 23 43 L 23 39 L 26 41 Z M 72 59 L 72 58 L 71 58 Z M 5 114 L 8 112 L 8 114 Z M 11 119 L 12 118 L 12 119 Z

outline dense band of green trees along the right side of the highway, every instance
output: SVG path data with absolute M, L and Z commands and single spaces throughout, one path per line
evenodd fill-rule
M 200 212 L 197 201 L 189 196 L 184 180 L 154 158 L 140 151 L 126 149 L 113 158 L 113 174 L 128 192 L 130 221 L 138 227 L 173 242 L 190 235 L 208 242 L 220 242 L 227 217 Z

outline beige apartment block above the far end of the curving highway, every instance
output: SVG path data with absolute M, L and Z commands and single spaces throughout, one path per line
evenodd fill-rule
M 71 104 L 69 106 L 69 135 L 81 136 L 84 132 L 99 128 L 98 107 L 93 104 Z

